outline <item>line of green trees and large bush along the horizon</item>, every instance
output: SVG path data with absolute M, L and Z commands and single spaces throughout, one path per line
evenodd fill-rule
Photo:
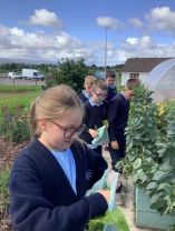
M 115 71 L 119 73 L 120 68 L 107 67 L 106 71 Z M 27 63 L 4 63 L 0 64 L 0 73 L 8 73 L 9 71 L 21 72 L 23 68 L 37 69 L 43 73 L 46 78 L 46 88 L 66 83 L 71 86 L 77 92 L 82 89 L 84 78 L 87 74 L 95 74 L 95 71 L 104 71 L 103 67 L 95 64 L 87 66 L 84 58 L 77 59 L 60 59 L 58 64 L 27 64 Z M 119 74 L 117 74 L 119 76 Z

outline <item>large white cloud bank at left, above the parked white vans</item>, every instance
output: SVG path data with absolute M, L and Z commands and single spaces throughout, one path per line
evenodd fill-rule
M 56 36 L 26 32 L 18 28 L 0 27 L 0 57 L 55 61 L 62 57 L 78 56 L 84 44 L 60 31 Z

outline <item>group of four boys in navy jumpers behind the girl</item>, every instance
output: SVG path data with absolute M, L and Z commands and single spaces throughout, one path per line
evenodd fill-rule
M 125 128 L 127 127 L 129 101 L 133 98 L 133 89 L 139 83 L 138 79 L 129 79 L 125 89 L 117 93 L 114 72 L 108 72 L 106 80 L 96 79 L 94 76 L 85 78 L 84 90 L 79 94 L 85 106 L 86 130 L 80 138 L 101 154 L 103 147 L 91 144 L 98 135 L 97 129 L 103 121 L 108 121 L 109 144 L 108 150 L 111 159 L 111 168 L 117 171 L 116 163 L 125 157 Z

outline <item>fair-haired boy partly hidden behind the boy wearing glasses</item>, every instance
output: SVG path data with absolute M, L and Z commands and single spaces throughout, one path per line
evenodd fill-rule
M 96 78 L 94 76 L 85 77 L 84 90 L 79 94 L 79 98 L 80 98 L 80 100 L 82 102 L 86 102 L 91 97 L 91 92 L 93 92 L 93 88 L 91 87 L 93 87 L 93 83 L 94 83 L 95 80 L 96 80 Z

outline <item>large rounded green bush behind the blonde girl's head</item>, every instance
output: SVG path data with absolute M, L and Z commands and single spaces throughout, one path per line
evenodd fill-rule
M 58 63 L 58 69 L 52 71 L 52 78 L 47 80 L 46 88 L 65 83 L 71 86 L 77 92 L 79 92 L 84 86 L 84 78 L 88 73 L 89 69 L 85 64 L 82 58 L 76 60 L 62 59 Z

